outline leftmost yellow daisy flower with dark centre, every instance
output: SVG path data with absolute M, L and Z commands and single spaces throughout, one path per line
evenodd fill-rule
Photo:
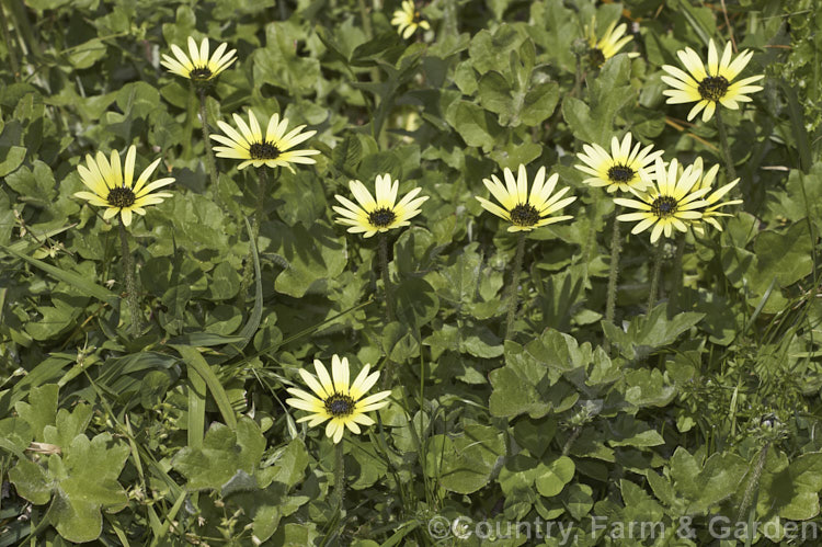
M 132 146 L 126 152 L 126 163 L 121 167 L 119 153 L 112 151 L 109 161 L 103 152 L 98 152 L 96 159 L 85 155 L 85 166 L 78 164 L 80 180 L 91 192 L 76 192 L 75 196 L 87 200 L 92 205 L 106 207 L 103 218 L 110 219 L 119 213 L 125 226 L 132 224 L 132 214 L 145 215 L 147 205 L 162 203 L 163 197 L 171 197 L 168 192 L 153 192 L 155 190 L 174 182 L 172 178 L 158 179 L 146 184 L 162 158 L 157 158 L 147 167 L 137 182 L 134 181 L 134 162 L 137 157 L 137 147 Z

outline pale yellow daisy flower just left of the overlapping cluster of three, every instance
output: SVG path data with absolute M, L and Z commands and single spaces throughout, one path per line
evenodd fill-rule
M 545 167 L 540 167 L 534 178 L 530 194 L 528 194 L 528 173 L 525 171 L 525 166 L 520 164 L 516 179 L 509 168 L 505 168 L 503 175 L 505 184 L 495 174 L 491 175 L 491 180 L 482 180 L 486 187 L 500 202 L 502 207 L 483 197 L 476 197 L 482 208 L 511 223 L 509 231 L 530 231 L 540 226 L 573 218 L 571 215 L 550 216 L 576 200 L 575 196 L 560 200 L 571 190 L 570 186 L 566 186 L 551 195 L 559 180 L 557 173 L 550 175 L 546 181 Z

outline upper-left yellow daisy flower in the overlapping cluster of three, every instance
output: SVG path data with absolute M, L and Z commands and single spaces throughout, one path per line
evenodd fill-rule
M 621 144 L 616 137 L 610 139 L 610 153 L 596 144 L 583 145 L 583 151 L 576 157 L 585 164 L 574 167 L 591 175 L 582 182 L 591 186 L 605 186 L 608 193 L 617 190 L 644 190 L 648 183 L 642 174 L 648 166 L 662 156 L 663 150 L 651 151 L 653 145 L 641 147 L 642 145 L 637 143 L 631 148 L 630 133 L 625 135 Z

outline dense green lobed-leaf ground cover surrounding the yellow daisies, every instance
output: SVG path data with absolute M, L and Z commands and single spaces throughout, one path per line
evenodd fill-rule
M 791 528 L 822 489 L 813 0 L 435 0 L 406 38 L 393 1 L 0 5 L 0 546 L 818 545 Z M 632 41 L 600 65 L 592 22 Z M 315 164 L 263 192 L 233 159 L 209 176 L 197 90 L 160 65 L 190 36 L 237 49 L 212 134 L 278 113 L 317 132 Z M 718 106 L 743 203 L 660 244 L 623 223 L 608 320 L 617 194 L 576 155 L 630 132 L 732 182 L 717 116 L 663 93 L 710 39 L 765 75 Z M 75 193 L 87 153 L 133 145 L 174 182 L 127 228 L 128 292 L 118 217 Z M 520 164 L 576 201 L 520 232 L 515 269 L 521 236 L 475 197 Z M 350 180 L 385 173 L 429 197 L 410 226 L 334 223 Z M 391 391 L 339 444 L 286 403 L 332 355 Z M 761 527 L 722 540 L 716 516 Z M 498 537 L 537 518 L 570 538 Z

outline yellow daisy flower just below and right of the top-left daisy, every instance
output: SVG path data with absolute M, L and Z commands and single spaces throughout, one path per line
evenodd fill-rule
M 269 125 L 265 128 L 265 137 L 263 137 L 262 128 L 253 111 L 249 111 L 248 125 L 237 114 L 233 115 L 233 118 L 240 132 L 220 121 L 217 122 L 217 125 L 227 136 L 212 135 L 212 138 L 225 145 L 214 147 L 214 151 L 217 152 L 218 158 L 246 160 L 237 169 L 246 169 L 248 166 L 267 166 L 271 168 L 285 167 L 290 172 L 294 172 L 290 163 L 317 163 L 313 158 L 309 158 L 308 156 L 320 153 L 319 150 L 292 150 L 292 148 L 311 138 L 317 133 L 315 130 L 301 133 L 306 127 L 305 125 L 295 127 L 286 134 L 288 118 L 284 117 L 281 121 L 279 114 L 274 114 L 269 119 Z

